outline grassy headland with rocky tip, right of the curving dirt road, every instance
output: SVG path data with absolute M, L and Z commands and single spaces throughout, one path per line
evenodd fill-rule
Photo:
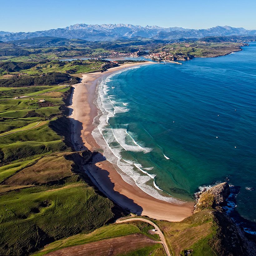
M 256 255 L 254 238 L 229 218 L 229 185 L 224 182 L 201 192 L 194 213 L 180 222 L 156 221 L 174 256 Z

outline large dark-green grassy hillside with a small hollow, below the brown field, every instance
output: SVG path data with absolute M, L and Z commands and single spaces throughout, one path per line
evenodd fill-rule
M 112 203 L 79 176 L 64 178 L 62 183 L 1 193 L 1 254 L 33 251 L 55 239 L 92 231 L 113 217 Z

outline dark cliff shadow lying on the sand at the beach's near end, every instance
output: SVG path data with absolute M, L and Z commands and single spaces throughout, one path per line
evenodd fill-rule
M 88 176 L 92 180 L 93 184 L 97 187 L 97 189 L 100 190 L 103 194 L 105 194 L 106 197 L 111 199 L 114 203 L 118 204 L 128 212 L 141 215 L 143 208 L 140 205 L 136 204 L 132 199 L 116 191 L 114 189 L 115 184 L 110 179 L 109 171 L 100 168 L 99 166 L 96 166 L 96 163 L 100 163 L 105 160 L 106 158 L 101 153 L 93 152 L 91 163 L 84 166 L 86 174 L 89 173 Z M 96 172 L 97 178 L 94 178 L 93 172 Z M 101 187 L 101 184 L 104 184 L 104 187 L 107 188 L 108 191 L 105 191 Z

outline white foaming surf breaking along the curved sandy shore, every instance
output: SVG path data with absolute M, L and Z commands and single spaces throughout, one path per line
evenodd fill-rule
M 139 68 L 139 66 L 130 69 L 134 68 Z M 122 159 L 121 154 L 123 150 L 148 153 L 152 149 L 139 145 L 127 132 L 126 129 L 112 129 L 109 126 L 108 120 L 111 116 L 115 116 L 118 111 L 127 111 L 125 107 L 121 107 L 119 105 L 121 103 L 115 102 L 113 100 L 113 96 L 109 96 L 107 94 L 109 86 L 106 85 L 106 83 L 108 81 L 111 81 L 110 78 L 116 74 L 117 73 L 107 77 L 106 79 L 102 79 L 98 83 L 98 97 L 94 101 L 94 103 L 98 107 L 99 111 L 98 116 L 94 118 L 94 124 L 96 125 L 96 128 L 92 131 L 93 137 L 95 138 L 97 144 L 100 145 L 103 149 L 103 154 L 106 159 L 113 164 L 117 172 L 121 175 L 122 179 L 128 184 L 135 184 L 142 191 L 155 197 L 156 199 L 178 205 L 183 204 L 184 202 L 179 199 L 160 194 L 159 190 L 161 189 L 156 189 L 154 181 L 152 184 L 152 179 L 154 179 L 155 175 L 146 172 L 146 168 L 143 168 L 143 170 L 141 168 L 142 166 L 136 166 L 135 163 L 133 163 L 132 161 Z M 116 143 L 118 145 L 116 145 Z M 138 168 L 138 166 L 140 167 L 140 169 Z M 147 168 L 147 170 L 152 170 L 152 167 Z M 141 175 L 140 171 L 142 171 L 146 175 Z

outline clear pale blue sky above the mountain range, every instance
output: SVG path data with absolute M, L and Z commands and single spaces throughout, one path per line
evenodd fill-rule
M 0 3 L 0 31 L 33 32 L 76 23 L 256 29 L 256 0 L 12 0 Z

